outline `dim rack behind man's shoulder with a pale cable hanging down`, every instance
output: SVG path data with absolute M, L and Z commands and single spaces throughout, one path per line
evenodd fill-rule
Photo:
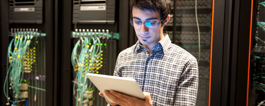
M 195 16 L 195 0 L 171 0 L 169 23 L 164 32 L 169 35 L 171 42 L 184 48 L 198 61 L 199 45 L 200 59 L 199 86 L 196 106 L 208 105 L 209 72 L 210 72 L 210 43 L 212 0 L 197 0 L 197 17 L 200 31 L 200 44 Z

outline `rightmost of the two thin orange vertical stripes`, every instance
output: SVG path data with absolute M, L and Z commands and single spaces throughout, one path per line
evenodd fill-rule
M 252 11 L 253 0 L 251 0 L 251 14 L 250 14 L 250 31 L 249 31 L 249 50 L 248 50 L 248 69 L 247 69 L 247 104 L 248 104 L 248 86 L 249 86 L 249 68 L 250 68 L 250 48 L 251 48 L 251 30 L 252 30 Z

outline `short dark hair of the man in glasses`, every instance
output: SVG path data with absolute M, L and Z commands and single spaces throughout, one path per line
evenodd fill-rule
M 135 7 L 140 10 L 148 10 L 159 12 L 161 22 L 164 23 L 165 18 L 170 14 L 171 1 L 170 0 L 130 0 L 130 10 L 132 16 L 132 8 Z

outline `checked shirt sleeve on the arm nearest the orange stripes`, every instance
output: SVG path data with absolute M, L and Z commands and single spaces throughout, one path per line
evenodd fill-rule
M 198 91 L 198 63 L 187 62 L 180 76 L 174 106 L 195 106 Z

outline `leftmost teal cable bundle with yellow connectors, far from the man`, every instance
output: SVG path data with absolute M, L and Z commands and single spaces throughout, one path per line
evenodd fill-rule
M 7 51 L 6 61 L 10 65 L 7 64 L 7 74 L 6 74 L 6 78 L 4 82 L 4 94 L 8 101 L 7 105 L 9 104 L 9 102 L 13 102 L 12 105 L 14 105 L 14 104 L 17 104 L 18 102 L 21 102 L 21 100 L 18 100 L 18 99 L 28 98 L 28 91 L 27 91 L 28 87 L 39 89 L 39 90 L 44 90 L 41 88 L 32 87 L 28 84 L 24 84 L 23 82 L 24 80 L 22 79 L 24 72 L 25 71 L 27 72 L 25 64 L 29 64 L 29 62 L 27 63 L 25 59 L 28 59 L 28 61 L 30 61 L 29 57 L 26 56 L 26 55 L 29 55 L 29 53 L 27 53 L 27 51 L 29 51 L 29 46 L 31 42 L 34 41 L 33 39 L 34 36 L 35 36 L 35 42 L 36 43 L 38 42 L 36 40 L 38 36 L 41 36 L 41 33 L 38 32 L 38 29 L 36 29 L 36 31 L 35 29 L 32 29 L 32 30 L 30 29 L 29 31 L 28 29 L 23 29 L 23 31 L 22 29 L 20 29 L 20 31 L 19 29 L 14 29 L 14 33 L 13 33 L 13 29 L 11 29 L 10 33 L 11 33 L 11 36 L 14 36 L 14 38 L 11 40 L 8 46 L 8 51 Z M 45 34 L 42 34 L 42 35 L 45 36 Z M 35 47 L 36 47 L 36 43 L 35 43 Z M 31 61 L 32 60 L 33 59 L 31 59 Z M 35 69 L 36 69 L 35 60 L 34 62 L 31 62 L 31 64 L 35 65 Z M 36 75 L 36 70 L 35 70 L 35 75 Z M 9 88 L 8 88 L 9 85 L 7 85 L 8 82 L 10 83 Z M 35 83 L 37 85 L 37 81 Z M 11 96 L 15 98 L 14 101 L 10 100 L 10 97 L 8 96 L 9 90 L 10 90 Z M 37 94 L 37 90 L 35 91 L 35 99 L 36 99 L 36 94 Z M 22 101 L 25 101 L 25 100 L 22 100 Z

